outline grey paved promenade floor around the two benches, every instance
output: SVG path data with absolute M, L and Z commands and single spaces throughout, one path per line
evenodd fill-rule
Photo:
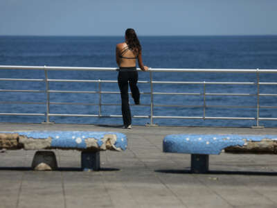
M 128 148 L 100 153 L 101 169 L 80 171 L 80 152 L 55 150 L 58 171 L 32 171 L 35 151 L 0 153 L 3 207 L 277 207 L 276 155 L 210 156 L 210 172 L 191 174 L 190 155 L 162 152 L 169 134 L 277 135 L 277 128 L 185 128 L 0 124 L 1 131 L 93 130 L 127 135 Z

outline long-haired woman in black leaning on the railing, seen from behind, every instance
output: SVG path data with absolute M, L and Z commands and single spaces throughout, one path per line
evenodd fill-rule
M 148 71 L 148 67 L 143 65 L 141 58 L 141 44 L 136 32 L 132 28 L 125 31 L 125 42 L 116 45 L 116 63 L 119 67 L 118 86 L 121 94 L 121 110 L 125 128 L 132 128 L 132 117 L 129 109 L 128 83 L 131 88 L 134 103 L 139 105 L 138 72 L 136 71 L 136 59 L 139 67 L 143 71 Z

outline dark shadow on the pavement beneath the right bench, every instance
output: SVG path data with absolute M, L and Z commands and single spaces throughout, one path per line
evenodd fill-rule
M 172 173 L 172 174 L 215 174 L 215 175 L 267 175 L 277 176 L 276 172 L 260 172 L 260 171 L 208 171 L 206 173 L 193 173 L 190 170 L 155 170 L 157 173 Z

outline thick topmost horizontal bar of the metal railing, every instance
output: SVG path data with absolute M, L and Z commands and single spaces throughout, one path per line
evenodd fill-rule
M 10 66 L 0 65 L 0 69 L 37 69 L 37 70 L 75 70 L 75 71 L 118 71 L 112 67 L 39 67 L 39 66 Z M 137 68 L 141 71 L 141 69 Z M 226 72 L 226 73 L 277 73 L 276 69 L 149 69 L 159 72 Z

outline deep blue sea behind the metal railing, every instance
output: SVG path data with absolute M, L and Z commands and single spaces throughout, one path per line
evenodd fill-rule
M 139 36 L 143 63 L 152 69 L 276 69 L 277 35 L 244 36 Z M 119 36 L 0 36 L 0 65 L 51 67 L 117 67 L 116 44 Z M 0 69 L 0 78 L 44 78 L 42 70 Z M 48 71 L 50 79 L 117 80 L 117 71 Z M 256 73 L 154 72 L 155 81 L 257 82 Z M 139 71 L 139 80 L 150 80 L 150 73 Z M 261 73 L 260 82 L 274 83 L 277 73 Z M 139 83 L 142 93 L 149 83 Z M 3 92 L 7 89 L 44 91 L 44 82 L 0 80 L 0 123 L 42 123 L 45 116 L 16 116 L 5 113 L 46 112 L 46 94 Z M 98 91 L 97 83 L 49 83 L 50 90 Z M 199 93 L 201 95 L 154 94 L 154 116 L 277 118 L 277 96 L 256 96 L 257 85 L 177 85 L 154 84 L 154 92 Z M 101 90 L 119 92 L 117 83 L 102 83 Z M 277 85 L 260 85 L 261 94 L 277 94 Z M 206 92 L 206 96 L 203 96 Z M 249 94 L 224 96 L 210 94 Z M 15 102 L 24 102 L 19 104 Z M 52 114 L 98 114 L 98 94 L 50 94 Z M 29 104 L 33 103 L 33 104 Z M 60 105 L 59 103 L 67 103 Z M 84 105 L 73 105 L 82 103 Z M 103 117 L 50 116 L 55 123 L 122 125 L 120 95 L 101 94 Z M 129 103 L 133 104 L 132 96 Z M 151 97 L 141 94 L 141 105 L 132 105 L 133 116 L 150 115 Z M 164 106 L 169 105 L 169 106 Z M 176 106 L 178 105 L 178 106 Z M 203 105 L 206 105 L 204 108 Z M 240 107 L 235 107 L 240 106 Z M 145 125 L 149 118 L 133 118 L 132 124 Z M 153 119 L 157 125 L 251 127 L 256 120 L 235 119 Z M 277 121 L 259 121 L 277 127 Z

